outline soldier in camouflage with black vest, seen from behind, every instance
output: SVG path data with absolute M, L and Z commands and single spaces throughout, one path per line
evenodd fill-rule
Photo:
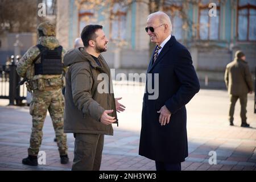
M 68 163 L 67 135 L 63 133 L 64 98 L 61 89 L 64 86 L 63 66 L 65 50 L 55 38 L 55 26 L 43 22 L 38 26 L 38 45 L 31 47 L 20 59 L 17 72 L 26 78 L 28 90 L 32 90 L 30 114 L 32 115 L 32 133 L 28 157 L 23 164 L 38 165 L 38 152 L 43 137 L 43 124 L 47 110 L 52 119 L 61 164 Z

